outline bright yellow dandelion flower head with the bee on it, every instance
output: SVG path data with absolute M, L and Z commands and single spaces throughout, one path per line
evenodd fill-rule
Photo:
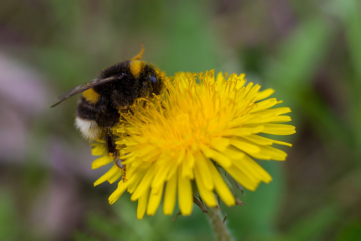
M 154 215 L 164 196 L 163 212 L 173 214 L 176 199 L 182 215 L 190 215 L 193 192 L 209 207 L 217 206 L 218 195 L 227 206 L 236 204 L 223 172 L 244 188 L 255 190 L 271 176 L 253 159 L 285 160 L 286 152 L 272 145 L 291 146 L 259 133 L 295 133 L 283 114 L 290 108 L 271 108 L 282 103 L 268 98 L 274 90 L 260 85 L 244 86 L 244 74 L 226 77 L 214 71 L 205 74 L 175 74 L 161 96 L 153 102 L 139 100 L 132 114 L 122 117 L 116 142 L 126 164 L 126 180 L 109 197 L 114 203 L 124 191 L 138 200 L 137 216 Z M 197 81 L 199 83 L 197 83 Z M 266 100 L 263 100 L 266 99 Z M 271 108 L 271 109 L 270 109 Z M 99 149 L 99 148 L 98 148 Z M 100 151 L 95 147 L 93 154 Z M 93 168 L 109 163 L 98 158 Z M 114 165 L 95 185 L 118 180 L 123 171 Z

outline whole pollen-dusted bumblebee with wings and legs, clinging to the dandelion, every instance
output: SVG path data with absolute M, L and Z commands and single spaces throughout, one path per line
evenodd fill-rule
M 123 170 L 123 181 L 126 167 L 119 159 L 115 145 L 117 136 L 112 129 L 137 99 L 152 98 L 152 93 L 158 95 L 164 89 L 165 73 L 153 64 L 140 61 L 143 52 L 142 46 L 140 53 L 131 60 L 103 69 L 96 79 L 66 92 L 51 106 L 83 93 L 76 110 L 75 126 L 90 142 L 103 140 L 105 155 L 114 158 L 114 163 Z

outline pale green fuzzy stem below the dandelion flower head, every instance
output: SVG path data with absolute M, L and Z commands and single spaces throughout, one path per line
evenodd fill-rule
M 208 208 L 208 221 L 213 230 L 214 236 L 217 241 L 233 241 L 231 232 L 228 230 L 227 225 L 223 224 L 223 218 L 219 214 L 219 210 L 213 207 Z

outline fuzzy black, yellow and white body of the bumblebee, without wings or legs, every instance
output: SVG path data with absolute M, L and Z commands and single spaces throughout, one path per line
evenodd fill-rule
M 123 61 L 105 68 L 97 81 L 113 78 L 83 91 L 75 125 L 90 141 L 99 138 L 104 128 L 112 128 L 138 98 L 160 94 L 162 74 L 153 65 L 139 60 Z

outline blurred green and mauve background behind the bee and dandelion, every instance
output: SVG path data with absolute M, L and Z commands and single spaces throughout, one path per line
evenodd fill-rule
M 286 162 L 245 206 L 225 208 L 236 240 L 361 240 L 361 1 L 5 0 L 0 8 L 0 240 L 212 240 L 194 208 L 136 219 L 108 167 L 73 126 L 77 98 L 50 106 L 100 69 L 134 56 L 171 76 L 246 73 L 291 107 Z

